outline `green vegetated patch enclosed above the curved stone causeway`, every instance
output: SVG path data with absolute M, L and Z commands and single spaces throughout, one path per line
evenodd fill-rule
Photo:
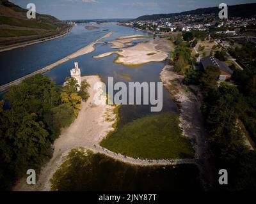
M 189 139 L 181 135 L 176 113 L 150 115 L 129 122 L 110 133 L 100 145 L 143 159 L 180 159 L 195 155 Z

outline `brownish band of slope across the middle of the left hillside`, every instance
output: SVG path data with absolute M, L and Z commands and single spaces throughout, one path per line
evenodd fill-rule
M 57 26 L 48 23 L 36 22 L 36 20 L 24 20 L 13 17 L 0 17 L 0 24 L 13 25 L 19 27 L 33 27 L 38 29 L 56 30 Z

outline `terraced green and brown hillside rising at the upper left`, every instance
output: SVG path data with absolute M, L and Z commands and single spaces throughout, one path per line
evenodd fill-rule
M 27 11 L 7 0 L 0 0 L 0 47 L 46 40 L 68 29 L 67 24 L 51 15 L 36 13 L 36 19 L 28 19 Z

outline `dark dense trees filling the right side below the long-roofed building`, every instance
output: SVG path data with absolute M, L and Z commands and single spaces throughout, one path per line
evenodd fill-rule
M 250 73 L 246 75 L 246 73 Z M 255 133 L 255 75 L 250 71 L 235 69 L 232 78 L 238 87 L 223 82 L 218 85 L 220 71 L 209 66 L 205 73 L 189 71 L 184 82 L 200 85 L 204 96 L 202 112 L 209 132 L 209 143 L 214 153 L 216 171 L 228 170 L 228 186 L 225 190 L 256 189 L 256 151 L 249 150 L 244 142 L 243 129 L 254 138 Z M 248 92 L 247 92 L 248 91 Z M 239 122 L 243 124 L 239 124 Z M 246 123 L 247 122 L 247 123 Z M 254 132 L 253 132 L 254 131 Z M 255 140 L 255 138 L 254 138 Z

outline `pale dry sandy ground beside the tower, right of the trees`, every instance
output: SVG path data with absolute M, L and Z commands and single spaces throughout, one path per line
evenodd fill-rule
M 52 159 L 42 168 L 38 182 L 36 182 L 35 186 L 28 186 L 26 179 L 21 179 L 13 188 L 13 191 L 50 191 L 50 179 L 61 165 L 63 157 L 71 149 L 76 147 L 94 147 L 94 145 L 99 146 L 102 138 L 113 129 L 112 124 L 115 120 L 107 122 L 106 115 L 108 115 L 108 118 L 113 117 L 115 119 L 113 113 L 114 106 L 106 105 L 106 101 L 104 105 L 95 105 L 93 101 L 93 97 L 97 92 L 93 89 L 93 85 L 100 82 L 100 78 L 98 76 L 88 76 L 83 77 L 82 80 L 87 80 L 91 86 L 88 89 L 90 98 L 82 103 L 77 119 L 69 128 L 63 129 L 60 137 L 54 142 Z

